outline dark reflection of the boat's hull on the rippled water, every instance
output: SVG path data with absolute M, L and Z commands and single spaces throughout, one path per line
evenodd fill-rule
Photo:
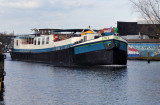
M 70 67 L 64 68 L 59 67 L 61 70 L 71 71 L 76 76 L 86 75 L 86 76 L 95 76 L 101 78 L 111 78 L 112 80 L 126 78 L 127 77 L 127 67 L 126 66 L 94 66 L 94 67 Z

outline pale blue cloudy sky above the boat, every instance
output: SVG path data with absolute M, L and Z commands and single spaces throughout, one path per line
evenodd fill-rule
M 0 0 L 0 32 L 32 33 L 37 28 L 116 27 L 137 21 L 129 0 Z

